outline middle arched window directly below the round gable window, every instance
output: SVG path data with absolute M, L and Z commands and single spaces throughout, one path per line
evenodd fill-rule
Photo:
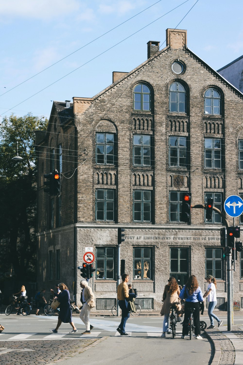
M 186 112 L 186 91 L 180 82 L 173 82 L 169 89 L 169 111 Z

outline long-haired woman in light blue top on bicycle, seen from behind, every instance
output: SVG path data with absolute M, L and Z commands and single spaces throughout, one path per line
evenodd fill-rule
M 199 301 L 204 301 L 203 293 L 199 287 L 197 278 L 195 275 L 191 275 L 187 281 L 187 284 L 180 292 L 180 299 L 185 299 L 185 316 L 182 328 L 181 338 L 185 338 L 188 335 L 188 317 L 190 310 L 195 309 L 193 312 L 194 324 L 195 324 L 195 336 L 196 339 L 202 339 L 200 336 L 200 318 L 199 318 Z

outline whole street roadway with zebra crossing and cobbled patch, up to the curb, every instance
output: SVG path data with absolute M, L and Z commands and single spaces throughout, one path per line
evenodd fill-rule
M 78 316 L 73 317 L 78 333 L 69 334 L 71 326 L 63 323 L 58 334 L 52 334 L 50 328 L 55 328 L 57 316 L 0 315 L 0 323 L 5 327 L 0 334 L 0 365 L 53 364 L 56 360 L 62 360 L 62 365 L 84 361 L 94 365 L 111 365 L 114 361 L 117 365 L 124 365 L 124 361 L 140 365 L 176 361 L 188 365 L 208 364 L 211 360 L 212 345 L 204 335 L 202 340 L 181 339 L 182 326 L 178 323 L 176 338 L 166 334 L 164 339 L 160 337 L 163 317 L 131 317 L 126 325 L 131 336 L 124 338 L 116 331 L 120 322 L 116 317 L 91 317 L 94 329 L 91 335 L 83 336 L 84 325 Z M 204 318 L 207 316 L 201 319 Z

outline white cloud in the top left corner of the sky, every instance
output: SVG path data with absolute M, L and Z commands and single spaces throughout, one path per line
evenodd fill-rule
M 49 20 L 77 12 L 80 6 L 81 2 L 78 0 L 8 0 L 0 2 L 0 17 Z

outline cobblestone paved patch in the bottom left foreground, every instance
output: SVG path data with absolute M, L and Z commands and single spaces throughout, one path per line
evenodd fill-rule
M 102 339 L 80 339 L 77 341 L 11 341 L 0 343 L 0 365 L 52 364 L 84 351 Z

